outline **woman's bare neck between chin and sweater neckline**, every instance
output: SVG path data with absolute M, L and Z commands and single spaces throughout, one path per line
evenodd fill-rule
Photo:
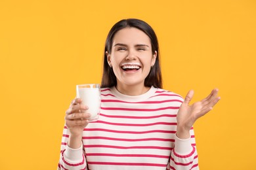
M 124 95 L 142 95 L 148 90 L 150 90 L 150 87 L 144 86 L 138 86 L 138 85 L 125 85 L 125 84 L 118 84 L 116 86 L 116 89 L 118 92 L 124 94 Z

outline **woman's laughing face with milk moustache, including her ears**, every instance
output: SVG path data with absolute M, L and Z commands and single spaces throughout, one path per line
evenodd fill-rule
M 150 38 L 140 29 L 127 27 L 114 35 L 108 63 L 117 78 L 117 86 L 144 86 L 144 80 L 156 61 Z

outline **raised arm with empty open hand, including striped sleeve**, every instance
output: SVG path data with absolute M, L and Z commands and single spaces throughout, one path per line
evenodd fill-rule
M 177 113 L 177 133 L 175 146 L 171 152 L 170 169 L 199 169 L 198 154 L 192 126 L 198 118 L 205 115 L 221 99 L 219 90 L 213 90 L 205 99 L 188 105 L 194 95 L 190 90 Z

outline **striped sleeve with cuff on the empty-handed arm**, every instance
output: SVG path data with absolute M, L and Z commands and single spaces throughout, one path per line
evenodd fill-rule
M 194 138 L 193 127 L 190 129 L 189 139 L 179 139 L 175 135 L 175 146 L 171 152 L 168 169 L 193 169 L 198 170 L 198 152 Z

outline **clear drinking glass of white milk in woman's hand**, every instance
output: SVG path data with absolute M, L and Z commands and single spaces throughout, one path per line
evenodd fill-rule
M 100 114 L 100 84 L 80 84 L 76 86 L 77 97 L 82 99 L 83 105 L 88 106 L 91 114 L 89 121 L 98 120 Z

